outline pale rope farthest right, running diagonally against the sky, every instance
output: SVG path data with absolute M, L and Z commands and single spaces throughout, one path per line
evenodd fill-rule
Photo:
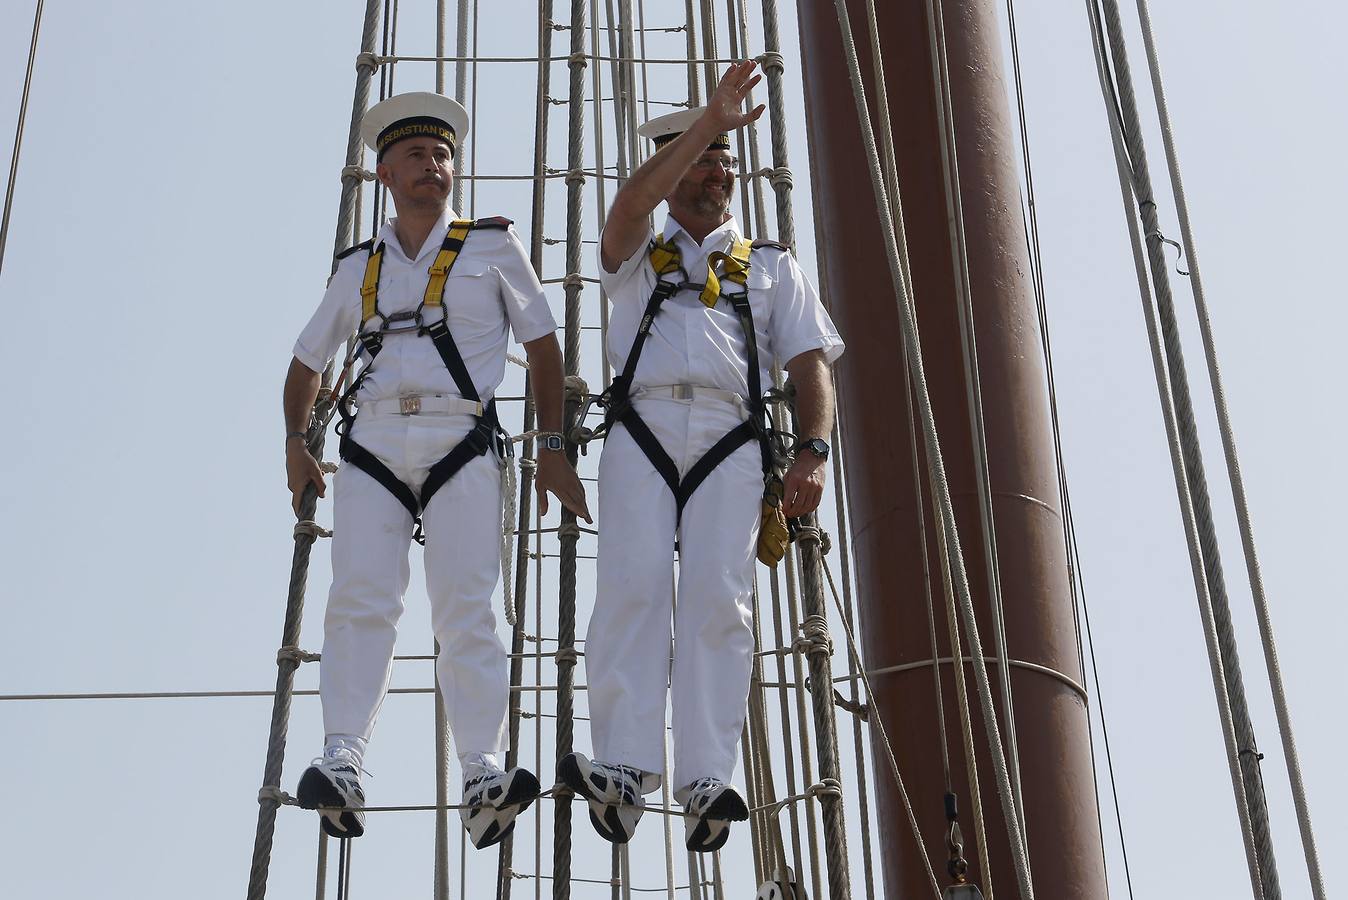
M 1189 221 L 1189 201 L 1184 190 L 1184 179 L 1180 175 L 1180 158 L 1174 146 L 1174 133 L 1170 125 L 1170 109 L 1166 104 L 1165 86 L 1161 81 L 1161 63 L 1157 54 L 1155 36 L 1151 30 L 1151 13 L 1146 0 L 1138 0 L 1138 18 L 1142 24 L 1142 40 L 1147 51 L 1147 66 L 1151 75 L 1153 94 L 1157 102 L 1157 112 L 1161 120 L 1161 140 L 1166 150 L 1166 164 L 1170 174 L 1171 195 L 1174 197 L 1175 212 L 1180 218 L 1181 240 L 1185 255 L 1189 257 L 1189 283 L 1193 291 L 1194 307 L 1198 318 L 1198 331 L 1202 335 L 1204 356 L 1208 362 L 1208 379 L 1212 384 L 1213 404 L 1217 412 L 1217 427 L 1221 432 L 1221 446 L 1227 458 L 1228 478 L 1236 507 L 1236 523 L 1240 528 L 1242 548 L 1246 555 L 1246 569 L 1250 577 L 1250 590 L 1254 596 L 1259 636 L 1263 644 L 1264 666 L 1268 670 L 1268 683 L 1273 688 L 1274 710 L 1278 717 L 1278 730 L 1282 734 L 1283 759 L 1287 767 L 1287 776 L 1291 783 L 1293 804 L 1297 810 L 1297 825 L 1301 830 L 1302 851 L 1306 858 L 1306 872 L 1310 878 L 1310 889 L 1316 900 L 1324 900 L 1325 887 L 1320 874 L 1320 857 L 1316 851 L 1316 838 L 1310 823 L 1310 808 L 1306 803 L 1306 790 L 1301 776 L 1301 761 L 1297 756 L 1297 742 L 1291 730 L 1291 714 L 1287 709 L 1287 697 L 1282 680 L 1282 670 L 1278 664 L 1278 648 L 1273 635 L 1273 618 L 1268 612 L 1268 601 L 1264 593 L 1263 575 L 1259 567 L 1259 555 L 1255 550 L 1254 527 L 1250 520 L 1250 507 L 1246 496 L 1244 477 L 1240 473 L 1240 458 L 1236 453 L 1235 430 L 1231 424 L 1231 415 L 1227 408 L 1225 388 L 1221 381 L 1221 372 L 1217 366 L 1216 342 L 1212 334 L 1212 321 L 1208 314 L 1208 302 L 1202 290 L 1202 278 L 1198 271 L 1197 248 L 1194 247 L 1193 229 Z

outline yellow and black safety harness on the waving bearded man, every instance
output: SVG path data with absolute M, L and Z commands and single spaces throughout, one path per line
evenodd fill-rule
M 613 379 L 609 388 L 599 399 L 599 404 L 605 412 L 603 431 L 609 432 L 615 423 L 621 423 L 627 428 L 627 432 L 632 435 L 632 441 L 635 441 L 636 446 L 642 449 L 642 453 L 646 454 L 646 458 L 651 461 L 651 465 L 674 493 L 675 520 L 682 519 L 683 507 L 687 504 L 689 497 L 693 496 L 693 492 L 697 490 L 698 485 L 706 480 L 712 470 L 749 441 L 756 439 L 759 442 L 759 451 L 763 463 L 764 499 L 772 494 L 774 484 L 778 482 L 771 443 L 772 428 L 767 416 L 767 406 L 763 401 L 763 387 L 759 377 L 758 340 L 754 330 L 754 313 L 749 309 L 748 296 L 749 255 L 756 247 L 775 247 L 778 249 L 786 249 L 785 245 L 775 241 L 749 241 L 745 238 L 735 238 L 735 243 L 731 245 L 728 253 L 716 252 L 708 257 L 706 282 L 704 284 L 696 284 L 687 282 L 687 271 L 683 268 L 678 247 L 675 247 L 674 241 L 663 241 L 658 237 L 652 240 L 647 251 L 647 256 L 650 259 L 651 268 L 655 269 L 655 290 L 651 292 L 651 299 L 646 303 L 646 311 L 643 313 L 642 322 L 636 329 L 636 338 L 632 341 L 632 349 L 627 354 L 627 364 L 623 366 L 621 375 Z M 716 272 L 717 264 L 723 265 L 720 275 Z M 670 280 L 666 279 L 667 275 L 682 276 L 682 279 Z M 727 291 L 725 284 L 735 284 L 739 290 Z M 678 466 L 674 459 L 670 458 L 670 454 L 666 453 L 663 446 L 661 446 L 659 439 L 651 431 L 650 426 L 642 420 L 642 416 L 638 415 L 636 408 L 632 406 L 632 377 L 636 375 L 636 364 L 640 360 L 646 338 L 651 333 L 651 325 L 655 321 L 655 315 L 661 311 L 661 306 L 665 300 L 682 290 L 698 291 L 698 299 L 701 299 L 708 309 L 714 309 L 720 299 L 725 299 L 735 310 L 735 314 L 740 321 L 740 327 L 744 329 L 744 356 L 748 361 L 749 391 L 748 396 L 744 397 L 744 404 L 748 410 L 748 419 L 727 431 L 725 435 L 712 445 L 702 458 L 698 459 L 692 469 L 689 469 L 687 474 L 679 478 Z M 779 493 L 776 496 L 779 496 Z

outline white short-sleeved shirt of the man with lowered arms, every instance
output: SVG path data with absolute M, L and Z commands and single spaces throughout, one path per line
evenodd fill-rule
M 407 259 L 398 243 L 394 232 L 398 220 L 390 220 L 380 229 L 376 241 L 384 244 L 379 269 L 381 314 L 415 310 L 422 302 L 430 265 L 454 218 L 453 210 L 441 216 L 415 259 Z M 360 287 L 368 259 L 368 253 L 357 251 L 341 261 L 322 303 L 295 341 L 295 358 L 314 372 L 328 365 L 361 323 Z M 449 333 L 483 403 L 496 393 L 506 377 L 507 325 L 520 344 L 557 329 L 543 287 L 512 228 L 473 229 L 445 280 L 443 310 L 423 310 L 423 322 L 430 325 L 442 315 L 449 317 Z M 365 330 L 377 327 L 377 318 L 365 325 Z M 458 388 L 429 337 L 415 331 L 388 334 L 357 401 L 410 393 L 458 396 Z

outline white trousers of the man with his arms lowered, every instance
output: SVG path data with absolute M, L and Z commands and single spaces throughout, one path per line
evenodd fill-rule
M 361 416 L 352 437 L 414 493 L 427 470 L 472 427 L 472 418 Z M 411 577 L 412 517 L 372 477 L 344 463 L 333 484 L 333 585 L 328 594 L 319 694 L 328 734 L 369 738 L 388 690 L 394 641 Z M 426 593 L 439 641 L 435 672 L 457 752 L 506 749 L 506 649 L 492 591 L 500 573 L 500 468 L 474 457 L 431 499 Z

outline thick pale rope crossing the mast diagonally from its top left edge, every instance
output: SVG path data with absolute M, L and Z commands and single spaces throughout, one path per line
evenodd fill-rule
M 878 207 L 882 210 L 888 209 L 888 194 L 884 186 L 884 176 L 880 170 L 880 158 L 875 141 L 875 131 L 871 125 L 869 113 L 865 102 L 865 85 L 861 78 L 860 63 L 857 62 L 856 42 L 852 38 L 852 26 L 847 9 L 845 0 L 834 0 L 834 8 L 838 13 L 838 26 L 842 39 L 842 49 L 847 57 L 848 75 L 852 82 L 853 100 L 856 101 L 856 116 L 861 128 L 861 139 L 867 155 L 867 168 L 871 175 L 871 186 L 875 191 L 878 199 Z M 917 333 L 917 321 L 913 317 L 913 300 L 907 292 L 903 279 L 902 279 L 902 264 L 899 263 L 900 253 L 906 253 L 907 248 L 899 249 L 892 224 L 888 216 L 880 216 L 880 226 L 886 248 L 886 261 L 890 265 L 890 278 L 894 283 L 896 302 L 899 304 L 899 326 L 903 330 L 903 340 L 909 345 L 909 364 L 913 369 L 913 380 L 917 387 L 918 408 L 922 418 L 923 442 L 926 446 L 927 462 L 931 468 L 933 481 L 938 486 L 938 499 L 941 509 L 941 528 L 945 532 L 946 542 L 952 548 L 952 562 L 956 573 L 956 589 L 960 600 L 960 614 L 965 620 L 965 631 L 969 635 L 969 648 L 973 656 L 973 674 L 979 686 L 979 699 L 983 709 L 983 717 L 987 728 L 988 744 L 992 756 L 992 765 L 998 781 L 998 794 L 1002 799 L 1003 814 L 1007 822 L 1007 831 L 1011 843 L 1012 861 L 1016 869 L 1016 878 L 1020 885 L 1020 895 L 1023 900 L 1031 900 L 1034 897 L 1034 889 L 1030 885 L 1030 872 L 1024 856 L 1024 837 L 1020 830 L 1020 823 L 1016 816 L 1015 798 L 1011 795 L 1011 779 L 1007 771 L 1006 754 L 1002 750 L 1002 733 L 996 721 L 996 709 L 992 701 L 992 686 L 988 680 L 987 666 L 983 663 L 983 645 L 977 632 L 977 621 L 975 620 L 973 598 L 969 593 L 968 574 L 964 570 L 964 554 L 960 550 L 960 535 L 954 523 L 954 511 L 950 500 L 950 488 L 945 476 L 945 462 L 941 454 L 940 442 L 936 430 L 936 416 L 931 410 L 931 399 L 927 393 L 926 372 L 922 366 L 921 358 L 921 342 Z

